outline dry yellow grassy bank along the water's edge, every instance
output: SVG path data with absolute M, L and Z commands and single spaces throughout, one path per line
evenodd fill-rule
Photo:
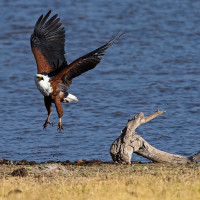
M 19 166 L 0 166 L 0 199 L 200 199 L 199 164 L 23 167 L 28 170 L 24 178 L 10 175 Z

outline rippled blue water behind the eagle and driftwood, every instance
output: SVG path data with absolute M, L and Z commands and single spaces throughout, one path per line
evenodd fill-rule
M 58 13 L 68 62 L 126 34 L 92 71 L 73 80 L 79 102 L 46 118 L 36 89 L 29 38 L 42 13 Z M 101 159 L 128 119 L 166 110 L 137 129 L 153 146 L 189 156 L 200 150 L 200 2 L 193 0 L 1 0 L 0 157 L 10 160 Z M 133 155 L 133 160 L 144 159 Z

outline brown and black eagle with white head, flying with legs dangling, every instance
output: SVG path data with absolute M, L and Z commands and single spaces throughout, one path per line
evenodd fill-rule
M 72 79 L 95 68 L 101 61 L 104 51 L 121 35 L 117 34 L 105 45 L 68 65 L 65 59 L 65 29 L 61 26 L 58 15 L 48 19 L 50 14 L 51 10 L 44 17 L 43 15 L 39 17 L 30 42 L 37 63 L 35 83 L 44 96 L 44 104 L 48 112 L 43 128 L 45 129 L 48 124 L 52 125 L 49 118 L 52 112 L 52 103 L 54 103 L 59 117 L 58 130 L 61 131 L 63 129 L 61 123 L 62 103 L 78 101 L 76 96 L 67 92 Z

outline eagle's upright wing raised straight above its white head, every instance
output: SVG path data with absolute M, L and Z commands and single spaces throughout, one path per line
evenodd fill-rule
M 67 65 L 64 56 L 65 30 L 57 14 L 47 21 L 50 13 L 51 10 L 44 17 L 40 16 L 30 38 L 38 73 L 49 73 Z

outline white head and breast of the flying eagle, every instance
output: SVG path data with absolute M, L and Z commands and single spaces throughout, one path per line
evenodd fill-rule
M 48 75 L 36 74 L 35 84 L 43 96 L 49 96 L 49 94 L 53 92 Z

